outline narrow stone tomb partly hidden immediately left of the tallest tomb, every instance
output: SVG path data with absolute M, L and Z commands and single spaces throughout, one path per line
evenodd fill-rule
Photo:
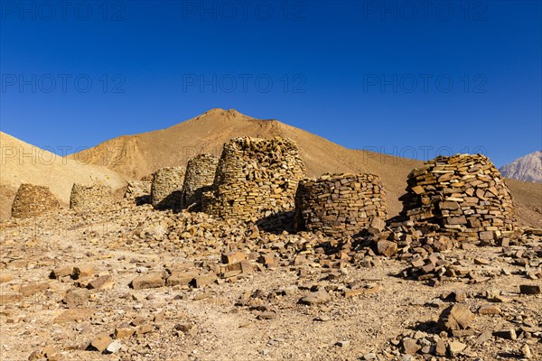
M 218 163 L 218 158 L 211 154 L 199 154 L 188 161 L 182 185 L 182 207 L 201 206 L 201 195 L 211 190 Z

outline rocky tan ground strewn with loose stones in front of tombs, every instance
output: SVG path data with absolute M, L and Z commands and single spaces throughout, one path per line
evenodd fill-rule
M 396 254 L 126 202 L 0 231 L 2 360 L 542 359 L 539 230 Z

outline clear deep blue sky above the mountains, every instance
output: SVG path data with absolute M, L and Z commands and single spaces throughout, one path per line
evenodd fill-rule
M 539 1 L 61 4 L 0 1 L 1 130 L 41 147 L 222 107 L 418 159 L 542 148 Z

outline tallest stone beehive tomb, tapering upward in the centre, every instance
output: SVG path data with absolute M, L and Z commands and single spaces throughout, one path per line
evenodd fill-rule
M 293 211 L 297 183 L 304 174 L 294 141 L 234 138 L 224 144 L 212 191 L 203 194 L 203 211 L 253 222 Z

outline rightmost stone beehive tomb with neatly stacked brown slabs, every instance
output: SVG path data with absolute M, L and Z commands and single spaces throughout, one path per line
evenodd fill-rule
M 509 189 L 484 155 L 439 156 L 408 175 L 402 216 L 457 241 L 492 244 L 516 229 Z

